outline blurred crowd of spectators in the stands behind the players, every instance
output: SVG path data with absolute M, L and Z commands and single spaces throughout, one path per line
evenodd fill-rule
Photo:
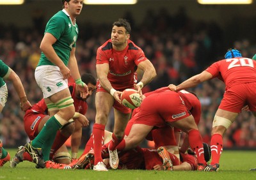
M 157 78 L 143 88 L 143 93 L 168 84 L 179 84 L 192 75 L 204 70 L 214 61 L 224 58 L 229 47 L 241 50 L 244 57 L 252 57 L 256 46 L 249 40 L 225 41 L 223 29 L 216 22 L 202 22 L 190 19 L 184 8 L 170 15 L 164 8 L 158 12 L 148 10 L 145 19 L 138 24 L 130 12 L 124 17 L 131 22 L 131 40 L 144 50 L 157 71 Z M 0 59 L 8 64 L 20 77 L 31 104 L 42 98 L 42 92 L 35 82 L 34 71 L 40 57 L 40 41 L 44 34 L 44 19 L 35 20 L 33 27 L 21 28 L 0 24 Z M 110 38 L 111 24 L 77 22 L 79 38 L 76 57 L 81 74 L 95 73 L 97 48 Z M 226 47 L 228 44 L 228 47 Z M 140 72 L 138 72 L 140 77 Z M 19 98 L 12 84 L 7 84 L 9 98 L 0 114 L 0 139 L 5 147 L 17 147 L 28 140 L 24 131 L 23 116 Z M 225 86 L 220 80 L 210 80 L 189 89 L 197 94 L 202 103 L 202 118 L 199 124 L 204 142 L 211 139 L 212 119 L 220 104 Z M 90 127 L 83 129 L 84 147 L 92 131 L 95 118 L 94 98 L 88 100 L 86 117 Z M 108 130 L 113 128 L 113 115 L 109 116 Z M 224 137 L 224 148 L 256 147 L 256 122 L 252 113 L 241 112 Z

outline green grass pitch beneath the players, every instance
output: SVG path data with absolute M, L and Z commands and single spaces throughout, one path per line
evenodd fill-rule
M 15 149 L 7 149 L 12 156 Z M 93 170 L 58 170 L 35 169 L 35 164 L 24 161 L 16 168 L 10 168 L 7 162 L 0 168 L 0 179 L 256 179 L 255 151 L 223 151 L 219 172 L 197 171 L 156 171 L 156 170 L 109 170 L 108 172 L 95 172 Z

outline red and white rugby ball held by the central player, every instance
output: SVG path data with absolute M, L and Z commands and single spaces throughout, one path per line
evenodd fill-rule
M 136 109 L 136 107 L 140 107 L 141 97 L 136 90 L 125 89 L 121 94 L 121 102 L 125 107 Z

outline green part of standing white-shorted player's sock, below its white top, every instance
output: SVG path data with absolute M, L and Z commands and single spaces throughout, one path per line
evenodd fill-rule
M 42 148 L 43 144 L 47 142 L 48 139 L 55 139 L 57 131 L 61 128 L 61 124 L 57 121 L 57 119 L 52 116 L 48 121 L 45 123 L 44 127 L 38 133 L 35 139 L 32 141 L 33 147 Z M 51 147 L 52 144 L 45 144 L 46 146 Z M 44 145 L 44 146 L 45 146 Z

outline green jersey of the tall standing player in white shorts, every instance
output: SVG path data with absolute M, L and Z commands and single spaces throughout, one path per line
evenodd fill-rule
M 73 25 L 72 21 L 67 14 L 67 11 L 58 11 L 47 22 L 45 33 L 51 33 L 57 41 L 52 45 L 56 54 L 60 57 L 63 63 L 67 66 L 72 47 L 76 47 L 76 40 L 78 35 L 77 24 Z M 42 65 L 56 65 L 53 64 L 44 53 L 41 52 L 40 61 L 37 66 Z

